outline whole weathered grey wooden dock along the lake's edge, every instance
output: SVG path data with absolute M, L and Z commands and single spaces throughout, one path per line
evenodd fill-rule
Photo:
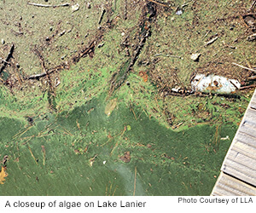
M 256 89 L 211 195 L 256 196 Z

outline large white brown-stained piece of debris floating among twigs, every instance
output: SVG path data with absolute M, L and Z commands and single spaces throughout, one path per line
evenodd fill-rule
M 240 89 L 241 83 L 236 79 L 229 79 L 217 75 L 197 74 L 191 82 L 193 92 L 216 92 L 229 94 Z

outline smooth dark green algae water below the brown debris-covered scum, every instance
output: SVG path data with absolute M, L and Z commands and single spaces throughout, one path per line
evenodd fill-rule
M 125 103 L 108 116 L 105 97 L 73 111 L 0 118 L 9 155 L 1 195 L 209 195 L 236 126 L 173 131 Z M 129 159 L 122 160 L 125 153 Z

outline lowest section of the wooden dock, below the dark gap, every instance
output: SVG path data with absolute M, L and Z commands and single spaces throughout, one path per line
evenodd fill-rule
M 213 187 L 211 195 L 256 196 L 256 188 L 221 172 L 215 186 Z

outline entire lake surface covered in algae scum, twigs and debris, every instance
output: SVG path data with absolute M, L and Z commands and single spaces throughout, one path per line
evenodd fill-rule
M 0 195 L 209 195 L 253 90 L 190 81 L 256 62 L 250 1 L 210 2 L 1 1 Z

